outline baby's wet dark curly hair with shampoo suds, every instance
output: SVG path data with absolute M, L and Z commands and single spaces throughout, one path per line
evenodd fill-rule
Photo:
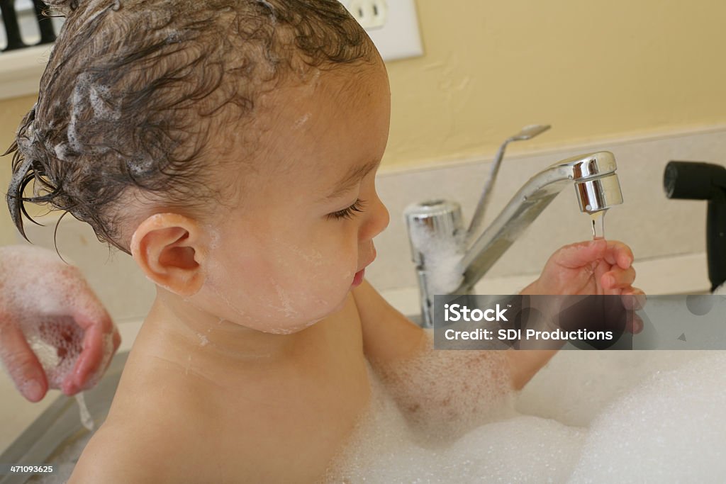
M 128 189 L 166 207 L 219 200 L 203 163 L 211 131 L 230 116 L 253 125 L 256 97 L 301 70 L 378 55 L 337 0 L 46 3 L 66 21 L 6 152 L 12 220 L 25 237 L 25 204 L 48 204 L 126 253 Z

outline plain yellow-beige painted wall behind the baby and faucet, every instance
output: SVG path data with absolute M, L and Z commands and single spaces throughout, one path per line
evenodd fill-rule
M 393 1 L 393 0 L 392 0 Z M 425 56 L 391 62 L 384 168 L 726 123 L 726 3 L 417 0 Z M 1 58 L 0 58 L 1 68 Z M 7 147 L 33 98 L 0 102 Z M 1 160 L 5 192 L 9 158 Z M 0 206 L 0 244 L 12 240 Z

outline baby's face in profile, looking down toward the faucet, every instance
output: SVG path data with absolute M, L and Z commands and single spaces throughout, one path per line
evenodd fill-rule
M 229 177 L 241 179 L 236 208 L 209 229 L 201 295 L 221 318 L 284 334 L 340 309 L 375 259 L 372 239 L 388 224 L 375 191 L 388 140 L 386 70 L 323 72 L 260 106 L 273 115 L 256 168 L 237 163 L 244 172 Z

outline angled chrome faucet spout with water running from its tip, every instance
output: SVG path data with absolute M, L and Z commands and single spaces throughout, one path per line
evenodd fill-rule
M 506 205 L 502 213 L 467 248 L 458 270 L 462 284 L 452 294 L 470 292 L 515 239 L 568 184 L 574 183 L 582 212 L 595 213 L 623 202 L 617 165 L 611 152 L 579 155 L 537 173 Z

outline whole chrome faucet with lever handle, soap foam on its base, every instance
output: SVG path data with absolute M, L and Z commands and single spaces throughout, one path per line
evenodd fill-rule
M 433 327 L 434 295 L 470 293 L 474 284 L 568 184 L 574 184 L 583 213 L 592 215 L 621 204 L 616 168 L 615 157 L 606 151 L 554 163 L 529 179 L 481 235 L 475 232 L 476 219 L 469 230 L 463 228 L 457 202 L 430 200 L 409 206 L 404 216 L 419 282 L 421 325 Z M 496 175 L 494 168 L 492 174 Z M 490 178 L 488 191 L 492 184 Z M 477 213 L 484 212 L 486 198 L 487 193 L 481 199 L 484 207 L 480 201 Z

